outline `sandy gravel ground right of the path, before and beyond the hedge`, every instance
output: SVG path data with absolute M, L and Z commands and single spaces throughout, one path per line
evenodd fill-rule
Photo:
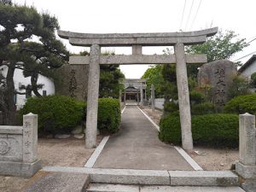
M 143 112 L 154 120 L 156 124 L 159 124 L 162 112 L 159 110 L 152 110 L 147 107 L 143 107 Z M 197 154 L 196 152 L 199 152 Z M 219 148 L 204 148 L 195 147 L 192 153 L 189 155 L 204 169 L 207 171 L 222 171 L 230 170 L 232 163 L 239 159 L 239 151 L 236 149 L 219 149 Z

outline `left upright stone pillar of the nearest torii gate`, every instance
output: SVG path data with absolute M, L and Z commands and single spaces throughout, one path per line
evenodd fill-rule
M 96 148 L 98 97 L 100 84 L 100 55 L 101 47 L 98 44 L 91 45 L 85 130 L 86 148 Z

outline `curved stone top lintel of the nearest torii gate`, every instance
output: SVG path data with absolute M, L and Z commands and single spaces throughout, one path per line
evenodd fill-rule
M 58 31 L 61 38 L 69 39 L 69 43 L 77 46 L 90 47 L 99 44 L 101 47 L 117 46 L 172 46 L 177 43 L 184 45 L 202 44 L 218 32 L 218 27 L 195 32 L 155 32 L 155 33 L 79 33 Z

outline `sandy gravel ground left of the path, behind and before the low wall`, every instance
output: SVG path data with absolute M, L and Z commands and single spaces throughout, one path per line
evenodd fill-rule
M 98 143 L 102 136 L 97 138 Z M 42 166 L 84 166 L 94 149 L 84 148 L 84 139 L 38 139 L 38 156 Z M 0 176 L 0 192 L 19 192 L 45 173 L 38 172 L 31 178 Z

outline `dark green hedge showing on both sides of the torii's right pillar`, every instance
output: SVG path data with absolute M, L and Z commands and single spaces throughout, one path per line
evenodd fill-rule
M 239 143 L 239 119 L 236 114 L 206 114 L 192 116 L 192 135 L 195 145 L 237 147 Z M 160 140 L 180 144 L 181 128 L 178 116 L 166 116 L 160 120 Z

